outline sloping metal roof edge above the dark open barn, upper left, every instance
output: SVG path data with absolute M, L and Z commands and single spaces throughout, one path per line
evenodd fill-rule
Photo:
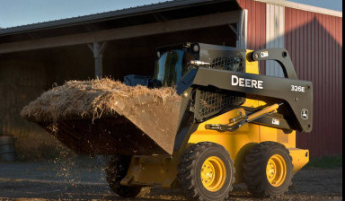
M 118 19 L 128 16 L 139 15 L 143 13 L 152 13 L 156 11 L 173 10 L 179 7 L 188 7 L 195 4 L 212 4 L 218 2 L 235 1 L 235 0 L 172 0 L 158 4 L 146 4 L 137 7 L 125 8 L 117 11 L 104 13 L 94 13 L 84 16 L 66 18 L 56 21 L 32 23 L 22 26 L 10 27 L 0 30 L 0 36 L 9 35 L 18 32 L 36 31 L 58 27 L 73 26 L 87 22 L 102 22 L 110 19 Z

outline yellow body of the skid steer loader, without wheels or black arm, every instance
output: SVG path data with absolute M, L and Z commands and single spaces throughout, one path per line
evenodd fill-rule
M 247 50 L 247 53 L 252 50 Z M 258 62 L 249 62 L 246 59 L 246 73 L 259 74 Z M 258 108 L 266 103 L 260 100 L 246 99 L 243 107 Z M 284 133 L 283 130 L 248 123 L 234 132 L 206 129 L 207 124 L 229 124 L 229 119 L 244 115 L 244 109 L 233 109 L 215 118 L 199 124 L 198 129 L 185 139 L 179 152 L 172 156 L 134 156 L 129 166 L 127 176 L 121 181 L 122 185 L 174 187 L 178 173 L 178 164 L 181 153 L 191 144 L 211 142 L 223 145 L 234 160 L 236 183 L 243 182 L 243 160 L 245 153 L 254 144 L 272 141 L 284 144 L 292 157 L 294 173 L 309 162 L 308 150 L 296 148 L 296 132 Z M 191 129 L 190 129 L 191 130 Z M 191 131 L 190 131 L 191 132 Z

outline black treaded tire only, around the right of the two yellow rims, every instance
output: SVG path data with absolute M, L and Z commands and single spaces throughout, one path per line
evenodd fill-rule
M 286 163 L 286 176 L 273 186 L 267 176 L 266 167 L 270 158 L 278 154 Z M 279 197 L 288 192 L 293 178 L 292 158 L 288 149 L 275 142 L 256 144 L 247 153 L 243 163 L 243 177 L 248 190 L 255 197 Z M 280 184 L 281 183 L 281 184 Z

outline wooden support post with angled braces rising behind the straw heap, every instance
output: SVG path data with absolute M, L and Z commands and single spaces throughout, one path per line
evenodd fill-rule
M 96 79 L 101 79 L 103 75 L 103 65 L 102 65 L 102 59 L 103 59 L 103 53 L 105 48 L 107 48 L 108 42 L 93 42 L 93 44 L 88 44 L 87 46 L 91 49 L 93 52 L 93 58 L 94 58 L 94 77 Z

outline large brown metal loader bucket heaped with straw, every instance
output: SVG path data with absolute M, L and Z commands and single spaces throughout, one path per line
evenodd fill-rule
M 161 100 L 161 94 L 153 96 L 150 90 L 138 87 L 139 94 L 133 95 L 133 90 L 137 90 L 135 87 L 121 85 L 121 89 L 113 89 L 110 86 L 116 91 L 115 94 L 103 88 L 101 92 L 91 92 L 87 86 L 82 87 L 82 90 L 78 87 L 72 92 L 75 86 L 70 84 L 64 88 L 65 91 L 57 88 L 56 92 L 50 91 L 52 94 L 42 94 L 38 100 L 22 109 L 22 117 L 38 123 L 68 148 L 80 154 L 172 154 L 181 101 L 175 95 L 173 99 L 168 96 Z M 88 95 L 81 95 L 82 92 Z M 90 93 L 93 95 L 90 96 Z M 102 100 L 102 105 L 106 101 L 107 108 L 95 108 L 95 100 Z M 92 108 L 96 109 L 93 111 L 98 111 L 98 115 L 95 116 L 94 112 L 84 112 L 83 115 L 75 112 L 80 104 L 89 107 L 90 104 L 85 103 L 87 101 L 93 103 Z M 53 114 L 62 111 L 62 102 L 70 104 L 70 109 L 64 107 L 66 112 L 53 118 Z

